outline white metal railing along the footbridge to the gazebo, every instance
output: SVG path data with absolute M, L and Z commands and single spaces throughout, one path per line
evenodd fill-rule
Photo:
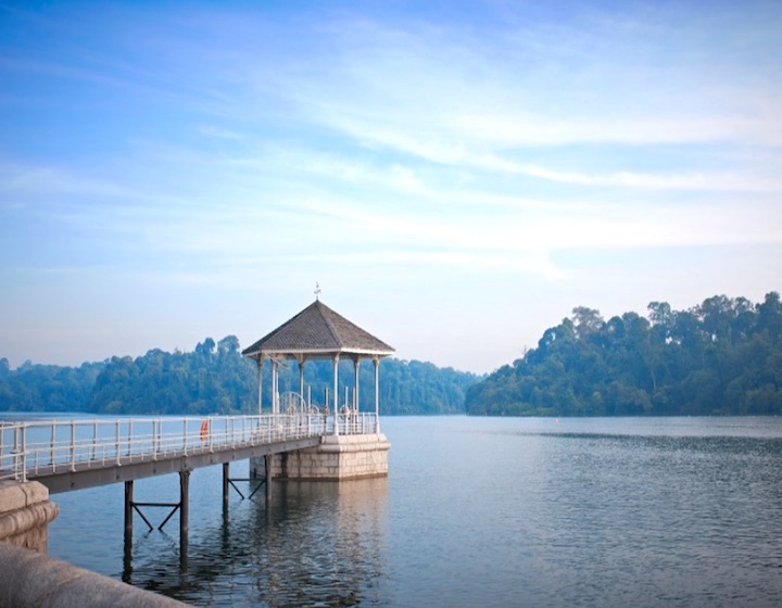
M 374 414 L 343 413 L 340 434 L 376 432 Z M 175 455 L 222 452 L 335 432 L 323 414 L 97 418 L 0 422 L 0 481 Z

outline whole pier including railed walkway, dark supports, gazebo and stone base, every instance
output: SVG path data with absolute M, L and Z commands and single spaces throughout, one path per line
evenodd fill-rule
M 343 481 L 387 476 L 390 444 L 380 432 L 378 366 L 394 350 L 323 304 L 318 293 L 313 304 L 243 351 L 257 364 L 256 415 L 0 421 L 0 542 L 46 554 L 48 523 L 59 514 L 50 494 L 123 483 L 126 560 L 135 516 L 153 529 L 146 512 L 164 508 L 168 514 L 157 528 L 178 514 L 180 567 L 187 571 L 194 469 L 223 467 L 224 514 L 231 487 L 244 498 L 236 481 L 257 480 L 248 497 L 264 486 L 268 504 L 275 478 Z M 354 365 L 354 383 L 352 390 L 344 387 L 343 398 L 340 358 Z M 333 366 L 333 384 L 325 389 L 319 406 L 304 387 L 304 366 L 313 359 Z M 358 367 L 365 359 L 375 369 L 374 413 L 358 409 Z M 268 414 L 262 411 L 266 360 L 272 369 Z M 287 362 L 298 365 L 299 391 L 280 394 L 279 366 Z M 231 478 L 230 464 L 243 460 L 249 477 Z M 178 502 L 134 499 L 136 481 L 172 473 L 179 478 Z M 51 561 L 41 563 L 61 569 Z

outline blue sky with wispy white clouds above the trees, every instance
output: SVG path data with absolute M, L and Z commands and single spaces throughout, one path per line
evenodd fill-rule
M 782 290 L 779 1 L 2 2 L 0 357 L 315 300 L 489 372 L 577 306 Z

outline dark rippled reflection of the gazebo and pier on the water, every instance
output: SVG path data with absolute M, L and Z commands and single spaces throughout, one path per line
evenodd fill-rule
M 191 527 L 186 560 L 164 532 L 136 537 L 123 580 L 194 605 L 380 605 L 386 478 L 276 481 L 264 496 Z

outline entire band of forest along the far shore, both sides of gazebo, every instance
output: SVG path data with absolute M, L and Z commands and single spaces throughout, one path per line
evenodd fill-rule
M 380 411 L 476 416 L 711 416 L 782 414 L 782 302 L 715 295 L 684 311 L 652 302 L 647 316 L 605 320 L 573 308 L 524 357 L 479 377 L 431 363 L 382 359 Z M 270 370 L 264 410 L 270 409 Z M 340 400 L 353 385 L 340 363 Z M 310 362 L 314 403 L 333 388 L 330 362 Z M 374 411 L 371 362 L 360 366 L 360 409 Z M 280 368 L 280 392 L 298 391 L 295 363 Z M 331 397 L 332 398 L 332 397 Z M 257 368 L 239 340 L 206 338 L 192 352 L 154 349 L 79 367 L 0 359 L 0 411 L 138 415 L 254 413 Z

